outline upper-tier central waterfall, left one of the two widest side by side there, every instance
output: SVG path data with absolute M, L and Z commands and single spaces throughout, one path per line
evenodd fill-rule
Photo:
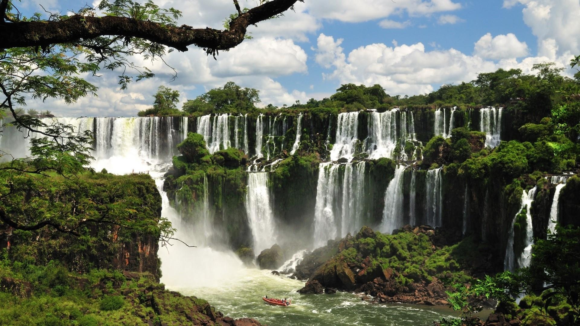
M 358 112 L 340 113 L 336 125 L 336 143 L 330 151 L 332 161 L 341 157 L 351 160 L 356 150 Z

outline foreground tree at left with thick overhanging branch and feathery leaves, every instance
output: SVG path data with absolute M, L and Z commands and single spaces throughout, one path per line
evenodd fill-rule
M 71 16 L 52 13 L 48 19 L 42 19 L 40 14 L 23 17 L 13 0 L 0 0 L 0 114 L 11 114 L 16 128 L 35 136 L 31 137 L 28 157 L 12 158 L 0 165 L 0 228 L 50 227 L 79 235 L 79 228 L 87 223 L 119 223 L 104 215 L 89 219 L 75 213 L 75 209 L 14 213 L 15 202 L 25 204 L 34 194 L 45 192 L 46 178 L 56 175 L 73 180 L 92 172 L 89 163 L 93 141 L 90 132 L 79 133 L 56 120 L 46 122 L 19 115 L 21 110 L 16 106 L 26 106 L 29 99 L 55 98 L 73 103 L 96 95 L 96 86 L 80 75 L 98 75 L 102 69 L 119 72 L 121 89 L 127 88 L 129 82 L 153 77 L 147 67 L 135 64 L 132 56 L 155 60 L 172 49 L 186 51 L 188 45 L 196 45 L 215 57 L 219 50 L 240 44 L 249 25 L 280 16 L 297 1 L 302 0 L 263 0 L 255 8 L 242 10 L 234 0 L 237 13 L 230 16 L 229 28 L 218 30 L 177 27 L 179 10 L 159 8 L 150 0 L 144 4 L 104 0 L 97 8 L 86 6 Z M 104 16 L 98 17 L 97 9 Z M 155 98 L 154 105 L 160 110 L 175 108 L 177 96 L 171 90 L 165 91 L 160 89 L 161 96 Z M 257 99 L 257 94 L 252 98 Z M 4 160 L 9 155 L 0 152 Z M 161 240 L 171 238 L 171 223 L 162 219 L 157 228 Z

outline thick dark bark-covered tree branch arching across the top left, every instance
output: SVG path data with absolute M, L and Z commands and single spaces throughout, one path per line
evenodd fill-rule
M 2 0 L 2 3 L 7 0 Z M 229 30 L 164 26 L 153 21 L 137 21 L 128 17 L 92 17 L 74 15 L 60 21 L 19 21 L 0 26 L 2 48 L 28 46 L 47 47 L 52 44 L 72 43 L 79 39 L 93 39 L 106 35 L 141 38 L 180 51 L 195 45 L 216 50 L 234 48 L 242 41 L 247 27 L 280 15 L 296 2 L 303 0 L 273 0 L 242 13 L 230 23 Z M 211 50 L 211 51 L 210 51 Z

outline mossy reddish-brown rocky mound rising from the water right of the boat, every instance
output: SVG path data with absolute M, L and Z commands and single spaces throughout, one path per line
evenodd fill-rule
M 322 293 L 324 288 L 363 292 L 375 302 L 404 302 L 447 305 L 441 278 L 454 282 L 468 281 L 468 257 L 450 255 L 459 245 L 449 247 L 444 231 L 431 227 L 405 226 L 392 235 L 376 233 L 369 227 L 353 237 L 318 248 L 296 267 L 295 276 L 311 272 L 300 293 Z M 470 245 L 470 244 L 469 244 Z M 329 255 L 334 253 L 330 258 Z M 322 258 L 328 258 L 322 262 Z M 411 260 L 413 263 L 406 263 Z M 460 263 L 465 262 L 465 267 Z M 463 281 L 463 282 L 465 282 Z

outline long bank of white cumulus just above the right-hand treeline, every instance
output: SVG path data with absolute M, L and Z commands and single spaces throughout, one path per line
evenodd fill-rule
M 493 40 L 491 35 L 489 38 Z M 535 63 L 550 61 L 546 56 L 518 61 L 516 53 L 512 57 L 494 57 L 500 59 L 496 62 L 478 54 L 466 55 L 452 48 L 426 51 L 420 42 L 395 46 L 371 44 L 346 55 L 340 47 L 341 42 L 324 34 L 318 37 L 317 63 L 331 69 L 323 77 L 340 84 L 380 84 L 391 95 L 428 93 L 438 85 L 472 81 L 477 74 L 498 68 L 520 68 L 524 73 L 532 73 L 531 67 Z M 556 61 L 559 67 L 565 64 L 563 57 Z

